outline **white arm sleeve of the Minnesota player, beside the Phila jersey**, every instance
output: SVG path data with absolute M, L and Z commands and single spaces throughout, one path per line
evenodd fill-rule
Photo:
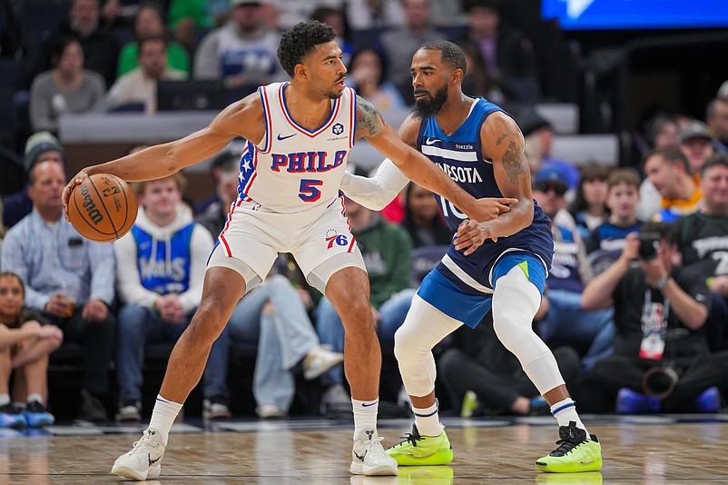
M 341 191 L 349 199 L 372 211 L 381 211 L 397 197 L 409 183 L 389 158 L 379 165 L 373 177 L 362 177 L 346 172 L 341 179 Z

